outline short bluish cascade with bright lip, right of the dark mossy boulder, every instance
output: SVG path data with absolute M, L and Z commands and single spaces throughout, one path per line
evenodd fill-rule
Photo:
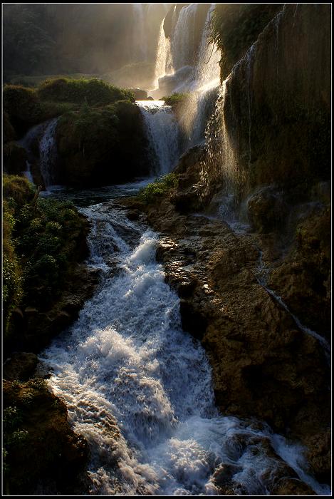
M 155 173 L 172 171 L 179 158 L 179 126 L 172 108 L 164 101 L 137 101 L 144 118 L 147 138 L 155 155 Z

